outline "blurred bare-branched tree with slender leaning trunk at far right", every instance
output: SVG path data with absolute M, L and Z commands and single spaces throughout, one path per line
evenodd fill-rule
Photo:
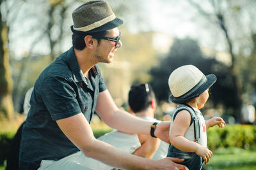
M 235 52 L 235 48 L 244 46 L 244 38 L 247 38 L 245 41 L 250 39 L 248 38 L 248 32 L 247 36 L 243 35 L 244 32 L 243 29 L 241 29 L 241 25 L 244 26 L 244 16 L 250 17 L 252 13 L 255 15 L 255 9 L 253 8 L 255 1 L 209 0 L 202 3 L 202 1 L 187 0 L 187 2 L 193 6 L 198 11 L 198 14 L 204 17 L 207 22 L 219 27 L 223 33 L 228 52 L 231 56 L 231 64 L 228 69 L 235 93 L 233 99 L 234 104 L 232 104 L 234 106 L 233 111 L 236 112 L 236 115 L 239 115 L 241 104 L 243 104 L 242 95 L 244 91 L 241 83 L 243 80 L 239 78 L 240 66 L 239 62 L 237 62 L 238 53 Z M 207 5 L 205 5 L 205 3 L 207 3 Z M 249 22 L 249 24 L 247 23 L 246 27 L 250 27 L 252 23 L 254 23 L 253 20 Z M 251 28 L 253 29 L 253 27 Z

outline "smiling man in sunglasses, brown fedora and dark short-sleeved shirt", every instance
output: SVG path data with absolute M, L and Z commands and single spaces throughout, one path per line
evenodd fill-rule
M 122 46 L 117 27 L 123 23 L 109 4 L 90 1 L 74 10 L 72 18 L 73 47 L 36 80 L 22 130 L 20 169 L 86 169 L 84 164 L 68 161 L 77 153 L 122 169 L 177 169 L 172 159 L 156 162 L 136 157 L 94 138 L 90 127 L 94 111 L 114 129 L 139 134 L 151 131 L 164 141 L 169 141 L 170 122 L 152 126 L 150 121 L 118 110 L 106 89 L 97 63 L 113 60 Z

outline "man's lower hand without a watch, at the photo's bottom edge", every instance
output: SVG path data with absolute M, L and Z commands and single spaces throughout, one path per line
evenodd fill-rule
M 184 159 L 166 157 L 164 159 L 157 160 L 157 166 L 159 167 L 159 169 L 188 170 L 188 167 L 174 163 L 174 162 L 183 162 L 183 161 Z

